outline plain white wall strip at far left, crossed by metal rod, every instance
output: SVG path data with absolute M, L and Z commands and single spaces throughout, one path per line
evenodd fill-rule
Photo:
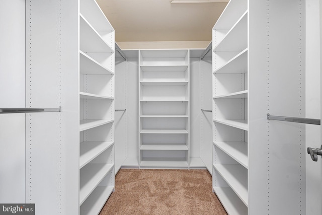
M 0 108 L 24 108 L 24 0 L 1 2 L 0 31 Z M 25 114 L 1 114 L 0 121 L 0 202 L 25 203 Z

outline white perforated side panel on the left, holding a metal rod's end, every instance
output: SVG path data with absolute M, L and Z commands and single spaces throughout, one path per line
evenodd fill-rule
M 26 1 L 26 202 L 78 214 L 78 1 Z M 45 198 L 44 198 L 45 196 Z

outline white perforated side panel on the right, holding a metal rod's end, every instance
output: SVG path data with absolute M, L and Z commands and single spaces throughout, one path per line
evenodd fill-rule
M 304 213 L 305 125 L 266 114 L 305 117 L 305 1 L 249 7 L 249 214 Z

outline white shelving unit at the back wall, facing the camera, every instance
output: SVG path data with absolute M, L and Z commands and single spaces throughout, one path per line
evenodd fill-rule
M 189 50 L 139 50 L 139 168 L 189 168 Z

